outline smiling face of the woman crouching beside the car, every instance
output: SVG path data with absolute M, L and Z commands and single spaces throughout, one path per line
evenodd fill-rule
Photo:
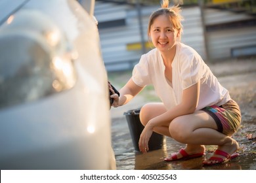
M 173 27 L 169 16 L 161 14 L 150 26 L 149 36 L 160 52 L 173 50 L 180 31 Z

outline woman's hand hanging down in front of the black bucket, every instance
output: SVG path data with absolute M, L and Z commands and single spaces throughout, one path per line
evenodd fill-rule
M 139 140 L 140 152 L 146 153 L 149 150 L 148 141 L 150 140 L 152 133 L 153 133 L 153 127 L 150 127 L 150 123 L 148 122 L 148 124 L 146 124 L 142 133 L 140 134 L 140 140 Z

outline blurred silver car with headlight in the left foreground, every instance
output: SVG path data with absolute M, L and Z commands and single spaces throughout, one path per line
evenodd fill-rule
M 116 169 L 95 1 L 0 1 L 0 169 Z

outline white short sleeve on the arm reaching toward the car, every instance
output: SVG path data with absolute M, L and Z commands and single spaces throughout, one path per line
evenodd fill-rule
M 142 55 L 139 63 L 133 68 L 133 82 L 138 86 L 144 87 L 151 83 L 149 75 L 149 65 L 146 55 Z

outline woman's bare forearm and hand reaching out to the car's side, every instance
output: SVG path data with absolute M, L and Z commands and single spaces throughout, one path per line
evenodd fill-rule
M 114 103 L 112 104 L 112 106 L 119 107 L 121 105 L 125 105 L 126 103 L 131 101 L 131 99 L 133 99 L 133 97 L 135 97 L 135 95 L 137 95 L 143 88 L 144 87 L 140 87 L 137 84 L 135 84 L 132 78 L 130 78 L 127 84 L 125 84 L 125 86 L 123 86 L 123 88 L 119 90 L 119 97 L 117 94 L 110 96 L 112 97 L 112 99 L 114 99 Z

